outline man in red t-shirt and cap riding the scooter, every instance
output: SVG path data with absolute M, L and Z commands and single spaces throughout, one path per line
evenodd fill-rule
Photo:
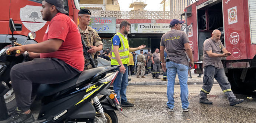
M 36 59 L 12 67 L 10 77 L 16 95 L 17 113 L 13 114 L 14 118 L 0 123 L 35 121 L 30 105 L 39 84 L 65 82 L 83 71 L 81 36 L 75 22 L 66 15 L 68 12 L 64 10 L 63 0 L 43 0 L 42 7 L 43 20 L 50 21 L 43 42 L 7 50 L 20 50 L 20 54 L 29 51 L 29 57 Z

